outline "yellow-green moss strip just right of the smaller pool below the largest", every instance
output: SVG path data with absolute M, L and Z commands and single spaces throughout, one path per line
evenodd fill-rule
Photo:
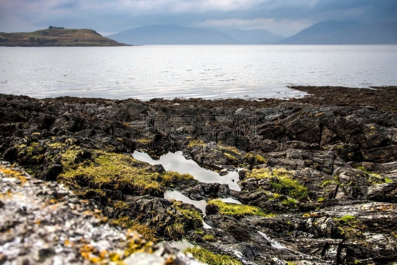
M 261 209 L 251 205 L 227 203 L 220 199 L 209 200 L 207 204 L 216 205 L 219 208 L 220 214 L 234 217 L 243 217 L 244 215 L 259 215 L 269 217 L 269 215 L 263 212 Z

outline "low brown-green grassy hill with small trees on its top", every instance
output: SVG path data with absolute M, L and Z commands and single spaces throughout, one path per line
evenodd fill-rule
M 48 28 L 34 32 L 0 32 L 0 46 L 126 46 L 92 29 Z

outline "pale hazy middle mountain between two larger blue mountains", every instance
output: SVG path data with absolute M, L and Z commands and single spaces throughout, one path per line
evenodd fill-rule
M 238 44 L 274 44 L 284 39 L 283 36 L 265 29 L 229 29 L 222 32 L 232 37 Z

